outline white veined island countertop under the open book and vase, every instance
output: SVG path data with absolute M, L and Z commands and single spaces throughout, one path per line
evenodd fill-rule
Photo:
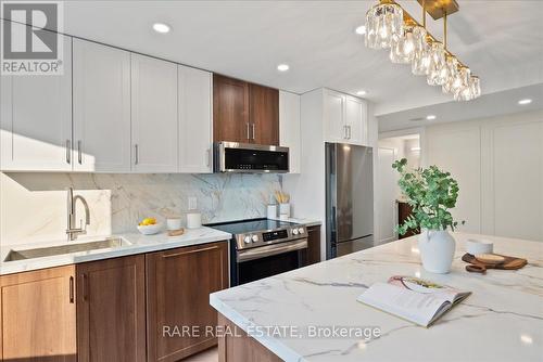
M 543 243 L 454 237 L 449 274 L 422 269 L 414 236 L 214 293 L 210 302 L 285 361 L 542 361 Z M 529 264 L 468 273 L 460 257 L 473 237 L 491 240 L 494 253 L 527 258 Z M 420 276 L 472 295 L 425 328 L 356 301 L 391 275 Z M 307 338 L 315 326 L 379 327 L 381 335 Z

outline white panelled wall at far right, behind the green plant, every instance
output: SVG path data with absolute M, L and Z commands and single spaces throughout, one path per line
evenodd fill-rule
M 543 111 L 427 128 L 428 165 L 460 188 L 460 230 L 543 241 Z

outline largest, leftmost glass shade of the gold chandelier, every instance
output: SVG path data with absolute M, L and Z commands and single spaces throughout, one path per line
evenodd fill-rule
M 403 36 L 403 9 L 382 1 L 366 13 L 366 47 L 371 49 L 389 49 L 392 42 Z

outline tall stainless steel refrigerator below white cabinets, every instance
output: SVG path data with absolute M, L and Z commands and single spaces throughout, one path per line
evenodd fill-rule
M 326 256 L 374 246 L 372 148 L 326 143 Z

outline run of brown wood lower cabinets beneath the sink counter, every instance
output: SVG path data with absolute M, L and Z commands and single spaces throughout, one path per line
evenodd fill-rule
M 3 275 L 0 361 L 179 361 L 217 344 L 226 287 L 228 242 Z

